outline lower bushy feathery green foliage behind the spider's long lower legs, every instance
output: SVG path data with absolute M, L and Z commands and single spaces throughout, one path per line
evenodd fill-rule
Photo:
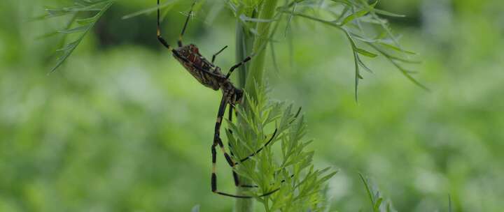
M 304 139 L 304 116 L 293 105 L 269 100 L 263 87 L 256 88 L 251 95 L 257 99 L 246 95 L 248 107 L 237 107 L 241 121 L 228 121 L 231 131 L 227 130 L 237 161 L 272 139 L 262 151 L 237 167 L 241 177 L 258 185 L 248 195 L 255 196 L 265 211 L 323 211 L 325 198 L 321 190 L 336 172 L 315 169 L 311 164 L 314 152 L 307 150 L 311 141 Z M 274 190 L 272 195 L 260 197 Z

